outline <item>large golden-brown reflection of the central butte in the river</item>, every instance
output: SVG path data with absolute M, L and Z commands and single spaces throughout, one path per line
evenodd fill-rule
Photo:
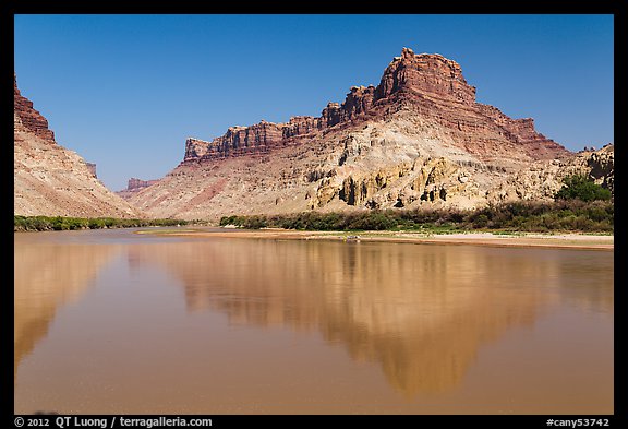
M 407 396 L 457 386 L 481 345 L 533 324 L 540 295 L 507 285 L 533 286 L 556 269 L 467 246 L 246 239 L 134 246 L 130 257 L 178 275 L 189 309 L 317 329 L 353 359 L 379 362 Z

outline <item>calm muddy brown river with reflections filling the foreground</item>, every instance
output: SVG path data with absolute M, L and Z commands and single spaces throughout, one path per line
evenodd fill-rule
M 15 234 L 14 412 L 612 414 L 613 252 Z

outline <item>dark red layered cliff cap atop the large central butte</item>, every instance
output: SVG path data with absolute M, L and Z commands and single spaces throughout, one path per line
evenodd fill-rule
M 403 48 L 384 71 L 375 87 L 352 86 L 345 102 L 329 103 L 319 117 L 298 116 L 286 123 L 262 120 L 250 127 L 231 127 L 210 142 L 190 138 L 184 163 L 263 154 L 273 148 L 298 145 L 314 134 L 360 122 L 385 119 L 409 108 L 416 115 L 457 131 L 460 148 L 481 158 L 491 155 L 497 134 L 532 159 L 550 159 L 569 152 L 534 130 L 531 118 L 511 119 L 499 109 L 475 102 L 460 65 L 440 55 L 415 55 Z

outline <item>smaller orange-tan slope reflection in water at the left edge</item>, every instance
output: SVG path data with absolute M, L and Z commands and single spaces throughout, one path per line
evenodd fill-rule
M 77 299 L 118 250 L 113 246 L 15 245 L 13 383 L 22 359 L 48 334 L 57 309 Z

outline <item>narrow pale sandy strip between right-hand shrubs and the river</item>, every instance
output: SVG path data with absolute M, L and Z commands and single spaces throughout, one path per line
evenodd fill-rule
M 424 234 L 415 231 L 297 231 L 287 229 L 241 230 L 227 228 L 194 228 L 181 231 L 159 230 L 152 234 L 165 234 L 190 237 L 230 237 L 261 239 L 298 239 L 298 240 L 342 240 L 353 242 L 387 241 L 435 245 L 474 245 L 494 247 L 546 247 L 558 249 L 614 250 L 614 236 L 584 234 L 492 234 L 492 233 L 456 233 Z

